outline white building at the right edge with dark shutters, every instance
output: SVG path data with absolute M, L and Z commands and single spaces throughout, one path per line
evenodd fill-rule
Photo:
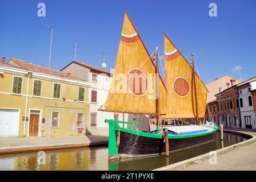
M 251 90 L 256 89 L 256 77 L 238 84 L 237 88 L 242 128 L 256 129 L 253 95 L 251 94 Z

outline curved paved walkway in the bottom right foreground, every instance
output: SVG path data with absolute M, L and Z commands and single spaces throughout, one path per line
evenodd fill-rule
M 225 128 L 227 130 L 228 128 Z M 256 136 L 256 130 L 251 129 L 228 129 L 243 131 Z M 248 132 L 249 131 L 249 132 Z M 195 160 L 193 162 L 182 164 L 174 168 L 166 170 L 176 171 L 230 171 L 230 170 L 250 170 L 256 171 L 256 139 L 252 139 L 251 142 L 241 144 L 237 147 L 232 147 L 228 150 L 219 152 L 217 154 L 217 164 L 210 164 L 209 158 L 203 158 Z

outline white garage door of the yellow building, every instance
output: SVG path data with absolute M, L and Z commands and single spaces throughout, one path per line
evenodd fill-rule
M 0 137 L 18 137 L 19 110 L 0 109 Z

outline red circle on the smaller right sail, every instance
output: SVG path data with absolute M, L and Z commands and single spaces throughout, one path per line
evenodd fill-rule
M 189 81 L 187 81 L 183 77 L 176 78 L 173 82 L 173 90 L 180 97 L 187 96 L 187 94 L 189 94 L 189 90 L 190 90 Z

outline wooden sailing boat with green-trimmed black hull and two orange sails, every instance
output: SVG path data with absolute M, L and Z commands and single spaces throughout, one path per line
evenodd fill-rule
M 167 86 L 158 74 L 157 48 L 154 52 L 156 58 L 154 64 L 125 12 L 113 81 L 106 103 L 99 110 L 154 114 L 157 122 L 161 121 L 161 118 L 197 118 L 199 121 L 198 118 L 204 116 L 207 89 L 166 35 L 165 52 Z M 185 67 L 189 71 L 185 71 Z M 182 75 L 184 72 L 185 74 Z M 198 89 L 197 93 L 195 86 Z M 193 99 L 194 96 L 197 100 Z M 113 119 L 105 119 L 105 122 L 109 123 L 109 159 L 159 155 L 166 150 L 162 127 L 145 133 L 118 125 L 118 123 L 130 125 L 140 123 L 113 121 Z M 214 133 L 217 131 L 217 126 L 213 122 L 206 122 L 201 126 L 166 126 L 166 128 L 169 151 L 209 142 L 214 139 Z

